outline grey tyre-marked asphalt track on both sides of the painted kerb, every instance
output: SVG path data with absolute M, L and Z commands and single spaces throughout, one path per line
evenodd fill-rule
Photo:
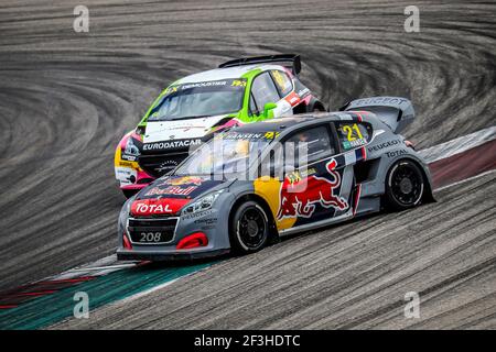
M 225 59 L 300 53 L 331 109 L 406 96 L 419 148 L 495 124 L 496 3 L 418 1 L 420 33 L 403 31 L 409 1 L 85 1 L 89 33 L 76 4 L 0 3 L 0 289 L 114 252 L 117 142 L 169 82 Z M 432 296 L 425 327 L 495 327 L 494 187 L 216 264 L 86 327 L 403 327 L 407 290 Z

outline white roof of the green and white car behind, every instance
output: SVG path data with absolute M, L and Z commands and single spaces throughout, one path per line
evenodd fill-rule
M 209 70 L 205 70 L 203 73 L 193 74 L 181 78 L 175 81 L 175 84 L 193 84 L 200 81 L 211 81 L 211 80 L 222 80 L 222 79 L 235 79 L 241 78 L 245 74 L 252 69 L 281 69 L 280 65 L 268 65 L 268 64 L 257 64 L 257 65 L 241 65 L 235 67 L 226 67 L 226 68 L 214 68 Z

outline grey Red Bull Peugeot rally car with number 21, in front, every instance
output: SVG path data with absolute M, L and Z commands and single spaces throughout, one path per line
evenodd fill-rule
M 376 97 L 217 134 L 126 201 L 118 258 L 250 253 L 284 234 L 431 201 L 425 162 L 397 134 L 413 118 L 408 99 Z

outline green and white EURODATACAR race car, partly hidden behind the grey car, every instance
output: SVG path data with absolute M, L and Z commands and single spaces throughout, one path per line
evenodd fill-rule
M 123 194 L 129 197 L 172 170 L 215 132 L 324 111 L 298 79 L 300 67 L 298 55 L 240 58 L 174 81 L 117 146 L 115 172 Z

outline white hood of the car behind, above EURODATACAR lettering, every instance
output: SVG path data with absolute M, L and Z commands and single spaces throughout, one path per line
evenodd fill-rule
M 173 121 L 148 121 L 143 143 L 201 139 L 226 114 Z

